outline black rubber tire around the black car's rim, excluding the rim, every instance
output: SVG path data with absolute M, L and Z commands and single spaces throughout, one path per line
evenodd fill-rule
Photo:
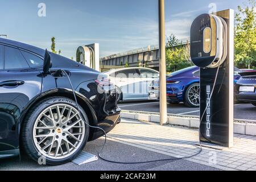
M 71 105 L 72 107 L 77 108 L 76 102 L 65 97 L 51 97 L 46 98 L 45 100 L 40 101 L 38 104 L 36 104 L 34 107 L 30 109 L 27 113 L 27 117 L 24 119 L 23 126 L 22 126 L 22 144 L 24 151 L 36 162 L 39 161 L 39 158 L 42 158 L 40 156 L 40 152 L 35 147 L 34 139 L 33 139 L 33 127 L 36 122 L 36 119 L 39 117 L 40 113 L 46 109 L 47 107 L 51 105 L 56 104 L 66 104 Z M 81 106 L 79 106 L 79 109 L 81 111 L 82 117 L 84 117 L 84 121 L 89 124 L 88 117 L 85 113 L 85 111 L 82 109 Z M 84 139 L 81 141 L 80 147 L 70 156 L 63 159 L 49 159 L 46 158 L 46 164 L 47 165 L 60 165 L 67 162 L 70 162 L 71 160 L 75 159 L 77 155 L 80 154 L 82 149 L 85 147 L 85 144 L 89 137 L 89 126 L 85 126 L 85 134 Z

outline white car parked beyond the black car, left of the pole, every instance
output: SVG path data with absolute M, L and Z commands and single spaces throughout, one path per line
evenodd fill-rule
M 104 72 L 117 86 L 118 101 L 148 100 L 148 85 L 159 78 L 159 72 L 150 68 L 119 68 Z

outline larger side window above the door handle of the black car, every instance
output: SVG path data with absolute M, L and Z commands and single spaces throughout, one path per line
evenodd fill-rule
M 5 46 L 5 69 L 30 68 L 19 49 Z

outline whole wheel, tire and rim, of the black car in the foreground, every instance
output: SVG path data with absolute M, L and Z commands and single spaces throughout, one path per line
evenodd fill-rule
M 88 117 L 65 97 L 47 98 L 36 104 L 23 123 L 24 150 L 39 163 L 59 165 L 80 154 L 89 137 Z

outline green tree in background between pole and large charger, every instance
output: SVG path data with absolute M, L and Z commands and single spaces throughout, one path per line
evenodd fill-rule
M 174 34 L 167 38 L 166 68 L 167 72 L 192 66 L 190 61 L 189 44 L 182 44 Z

